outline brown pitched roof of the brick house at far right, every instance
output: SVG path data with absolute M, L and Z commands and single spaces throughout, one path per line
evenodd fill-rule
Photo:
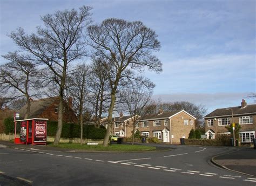
M 218 108 L 215 111 L 211 112 L 204 116 L 204 118 L 213 118 L 218 116 L 232 116 L 233 115 L 244 115 L 244 114 L 256 114 L 256 104 L 253 105 L 246 105 L 245 107 L 228 107 L 228 108 Z

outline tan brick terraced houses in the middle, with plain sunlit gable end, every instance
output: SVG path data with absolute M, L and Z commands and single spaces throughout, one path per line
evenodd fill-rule
M 112 134 L 132 136 L 131 116 L 121 116 L 115 119 Z M 190 130 L 195 127 L 196 118 L 184 110 L 174 112 L 159 112 L 145 115 L 136 123 L 136 131 L 142 136 L 157 137 L 166 143 L 180 143 L 180 138 L 187 138 Z M 135 132 L 136 132 L 135 131 Z

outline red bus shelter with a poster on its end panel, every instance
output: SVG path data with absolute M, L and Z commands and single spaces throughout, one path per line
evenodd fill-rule
M 45 144 L 47 139 L 47 120 L 33 118 L 26 120 L 14 120 L 15 144 Z

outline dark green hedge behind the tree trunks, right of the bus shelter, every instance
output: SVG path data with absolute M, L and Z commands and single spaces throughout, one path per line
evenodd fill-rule
M 55 136 L 57 131 L 58 122 L 48 121 L 47 122 L 47 135 Z M 87 139 L 104 139 L 106 134 L 106 129 L 101 126 L 100 128 L 95 128 L 94 125 L 84 125 L 83 126 L 83 137 Z M 73 138 L 80 137 L 80 125 L 75 123 L 63 123 L 62 135 L 61 137 Z

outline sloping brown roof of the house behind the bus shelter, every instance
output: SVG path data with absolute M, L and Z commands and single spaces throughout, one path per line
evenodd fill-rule
M 37 118 L 54 101 L 56 101 L 56 97 L 55 98 L 38 99 L 38 100 L 31 101 L 30 102 L 30 104 L 31 104 L 31 106 L 30 106 L 30 114 L 29 114 L 28 118 Z M 19 114 L 21 115 L 21 118 L 24 118 L 25 113 L 26 113 L 26 105 L 23 106 L 19 110 Z

